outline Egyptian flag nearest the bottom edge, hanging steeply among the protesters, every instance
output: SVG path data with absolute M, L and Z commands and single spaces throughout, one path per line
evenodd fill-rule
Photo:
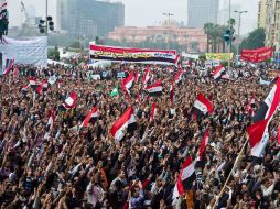
M 180 195 L 183 195 L 185 191 L 191 190 L 193 186 L 193 182 L 196 179 L 194 164 L 192 162 L 192 157 L 189 156 L 177 176 L 177 182 L 175 184 L 175 188 L 173 191 L 173 199 L 177 198 Z

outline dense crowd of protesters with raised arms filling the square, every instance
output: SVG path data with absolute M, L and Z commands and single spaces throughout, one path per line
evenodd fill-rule
M 133 69 L 114 65 L 106 69 L 112 72 L 110 76 L 100 80 L 88 79 L 83 67 L 18 68 L 17 77 L 0 78 L 1 208 L 280 208 L 279 114 L 269 127 L 263 156 L 251 156 L 249 144 L 244 147 L 251 123 L 246 106 L 255 97 L 251 108 L 256 111 L 271 88 L 259 85 L 259 69 L 235 68 L 231 72 L 238 73 L 233 79 L 214 80 L 209 72 L 200 75 L 195 67 L 186 67 L 171 102 L 169 84 L 175 67 L 151 66 L 153 80 L 163 84 L 163 94 L 158 97 L 142 91 L 143 65 Z M 121 79 L 112 76 L 118 70 L 140 72 L 129 97 L 121 90 Z M 23 90 L 30 76 L 42 80 L 54 74 L 57 81 L 46 91 Z M 118 95 L 111 97 L 116 87 Z M 78 95 L 76 107 L 61 109 L 73 90 Z M 214 113 L 195 118 L 193 102 L 200 92 L 211 99 Z M 154 101 L 158 112 L 151 121 Z M 110 128 L 131 106 L 137 130 L 116 142 Z M 98 107 L 98 119 L 87 128 L 75 129 L 93 107 Z M 47 125 L 51 110 L 55 110 L 52 129 Z M 207 128 L 209 143 L 198 162 L 197 151 Z M 173 198 L 186 156 L 195 164 L 196 180 L 187 195 Z

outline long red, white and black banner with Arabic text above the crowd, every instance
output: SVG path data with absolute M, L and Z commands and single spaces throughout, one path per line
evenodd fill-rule
M 89 44 L 90 59 L 125 63 L 175 65 L 179 59 L 173 50 L 128 48 Z

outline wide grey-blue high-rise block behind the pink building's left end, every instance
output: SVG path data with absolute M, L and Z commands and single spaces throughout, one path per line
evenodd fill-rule
M 57 0 L 57 25 L 74 36 L 103 36 L 125 25 L 121 2 Z

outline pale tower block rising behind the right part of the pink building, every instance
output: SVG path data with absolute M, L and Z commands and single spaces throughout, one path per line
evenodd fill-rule
M 217 23 L 219 0 L 189 0 L 187 26 L 202 29 L 205 23 Z

